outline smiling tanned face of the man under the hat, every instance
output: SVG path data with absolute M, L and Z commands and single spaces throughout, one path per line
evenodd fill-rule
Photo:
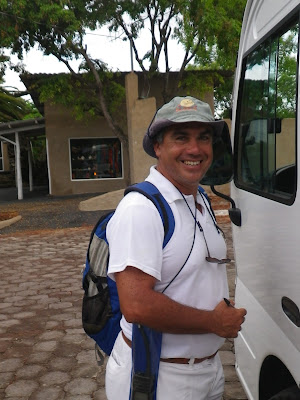
M 155 143 L 157 170 L 182 193 L 197 193 L 213 160 L 213 130 L 209 125 L 188 122 L 170 126 L 162 143 Z

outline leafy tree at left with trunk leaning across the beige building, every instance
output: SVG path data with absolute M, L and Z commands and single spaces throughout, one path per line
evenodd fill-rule
M 10 48 L 20 59 L 23 57 L 23 51 L 28 51 L 35 44 L 38 44 L 45 55 L 53 54 L 67 66 L 79 85 L 96 88 L 94 92 L 98 108 L 116 136 L 126 145 L 127 137 L 114 123 L 105 101 L 103 81 L 99 74 L 105 66 L 88 55 L 83 42 L 86 29 L 94 30 L 101 17 L 92 12 L 92 4 L 93 2 L 81 0 L 72 1 L 72 4 L 68 0 L 1 0 L 1 47 Z M 78 73 L 81 71 L 73 70 L 70 61 L 74 58 L 83 59 L 82 69 L 90 71 L 89 75 L 93 76 L 92 82 L 90 76 L 83 76 Z

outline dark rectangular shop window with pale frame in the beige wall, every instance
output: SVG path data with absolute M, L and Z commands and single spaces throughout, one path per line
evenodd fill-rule
M 72 180 L 122 178 L 117 138 L 70 139 Z

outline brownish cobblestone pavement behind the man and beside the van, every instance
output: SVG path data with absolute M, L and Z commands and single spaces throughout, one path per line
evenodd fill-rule
M 232 245 L 229 223 L 229 255 Z M 81 270 L 90 227 L 0 233 L 0 399 L 102 400 L 104 367 L 81 328 Z M 231 297 L 234 264 L 228 268 Z M 246 396 L 223 346 L 224 400 Z M 116 377 L 117 379 L 117 377 Z

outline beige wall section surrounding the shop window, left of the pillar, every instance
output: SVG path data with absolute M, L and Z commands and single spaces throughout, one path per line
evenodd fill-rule
M 101 193 L 126 186 L 128 157 L 123 148 L 123 178 L 72 180 L 70 138 L 114 137 L 103 117 L 93 121 L 77 121 L 61 106 L 45 104 L 46 138 L 48 143 L 50 194 L 64 196 L 80 193 Z

